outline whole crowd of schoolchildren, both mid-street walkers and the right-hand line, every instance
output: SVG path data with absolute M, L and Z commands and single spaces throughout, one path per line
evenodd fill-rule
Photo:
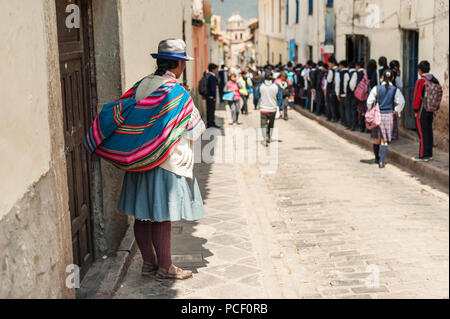
M 439 110 L 442 87 L 430 74 L 428 61 L 420 62 L 418 70 L 420 78 L 414 90 L 413 109 L 420 150 L 413 160 L 428 162 L 433 159 L 433 118 Z M 217 67 L 211 73 L 217 74 L 216 71 Z M 389 144 L 399 137 L 398 119 L 405 107 L 405 98 L 397 60 L 388 64 L 386 57 L 380 57 L 378 63 L 372 59 L 365 65 L 363 61 L 337 62 L 331 56 L 326 63 L 308 61 L 296 67 L 291 62 L 284 67 L 267 65 L 259 68 L 255 75 L 242 71 L 238 78 L 229 71 L 228 77 L 228 82 L 222 81 L 220 91 L 234 92 L 233 99 L 228 101 L 233 124 L 237 125 L 239 112 L 248 114 L 247 102 L 254 92 L 255 110 L 259 108 L 261 112 L 266 145 L 270 143 L 276 115 L 288 120 L 288 109 L 294 108 L 295 102 L 318 116 L 324 115 L 328 121 L 340 122 L 349 130 L 371 133 L 375 158 L 370 163 L 380 168 L 385 167 Z M 211 94 L 211 99 L 212 95 L 216 92 Z M 367 125 L 366 115 L 374 112 L 378 119 L 372 128 Z

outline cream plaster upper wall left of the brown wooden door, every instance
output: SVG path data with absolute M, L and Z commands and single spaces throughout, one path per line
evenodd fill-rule
M 44 7 L 0 0 L 0 219 L 50 168 Z

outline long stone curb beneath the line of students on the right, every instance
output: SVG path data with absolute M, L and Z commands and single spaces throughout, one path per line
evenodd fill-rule
M 315 114 L 311 114 L 309 111 L 302 109 L 300 106 L 295 105 L 295 110 L 299 112 L 301 115 L 318 122 L 320 125 L 326 127 L 327 129 L 337 133 L 339 136 L 344 137 L 345 139 L 359 144 L 360 146 L 365 147 L 368 150 L 372 150 L 372 142 L 356 134 L 353 134 L 351 131 L 336 127 L 334 123 L 330 123 Z M 402 154 L 392 148 L 389 149 L 387 154 L 387 159 L 391 162 L 400 165 L 412 172 L 416 176 L 431 179 L 439 183 L 440 186 L 445 187 L 448 192 L 449 188 L 449 173 L 445 170 L 433 167 L 426 163 L 415 162 L 409 156 Z

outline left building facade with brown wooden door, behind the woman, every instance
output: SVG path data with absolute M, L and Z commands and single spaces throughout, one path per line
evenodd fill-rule
M 104 103 L 155 71 L 160 40 L 184 38 L 193 55 L 191 1 L 0 5 L 0 298 L 74 298 L 72 265 L 82 279 L 129 224 L 123 172 L 88 156 L 84 136 Z

